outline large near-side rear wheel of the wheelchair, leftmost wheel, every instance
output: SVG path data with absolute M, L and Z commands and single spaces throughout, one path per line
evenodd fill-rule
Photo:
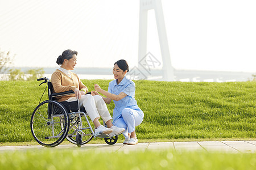
M 68 134 L 69 118 L 63 105 L 54 100 L 40 103 L 32 113 L 30 128 L 35 140 L 43 146 L 59 145 Z

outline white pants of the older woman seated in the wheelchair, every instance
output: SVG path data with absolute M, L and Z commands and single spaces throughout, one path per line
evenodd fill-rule
M 71 97 L 67 101 L 75 101 L 76 97 Z M 106 107 L 105 101 L 101 96 L 92 96 L 92 95 L 82 95 L 79 99 L 80 107 L 84 107 L 86 113 L 90 117 L 90 120 L 94 121 L 96 118 L 102 117 L 102 120 L 105 122 L 112 119 L 108 108 Z

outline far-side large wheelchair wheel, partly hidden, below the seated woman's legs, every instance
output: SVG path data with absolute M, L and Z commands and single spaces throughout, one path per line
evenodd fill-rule
M 88 122 L 86 121 L 86 118 L 81 115 L 81 119 L 82 119 L 82 128 L 89 128 Z M 94 129 L 94 125 L 91 121 L 90 122 L 90 126 L 92 127 L 92 129 Z M 67 139 L 69 142 L 77 145 L 77 139 L 76 137 L 74 137 L 74 135 L 71 136 L 71 134 L 75 133 L 76 129 L 79 128 L 79 124 L 80 124 L 80 120 L 79 117 L 75 117 L 73 120 L 70 121 L 70 125 L 69 125 L 69 133 L 67 135 Z M 82 144 L 84 145 L 85 143 L 90 142 L 90 140 L 92 140 L 93 138 L 93 134 L 92 131 L 90 129 L 82 129 L 81 130 L 81 134 L 82 134 Z

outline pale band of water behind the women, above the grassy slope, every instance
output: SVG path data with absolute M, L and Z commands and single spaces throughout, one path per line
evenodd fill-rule
M 18 68 L 23 72 L 33 68 Z M 57 68 L 44 68 L 44 76 L 51 78 L 51 74 Z M 80 79 L 108 79 L 113 80 L 112 68 L 76 68 L 73 70 Z M 130 73 L 130 71 L 129 71 Z M 129 73 L 128 78 L 134 79 Z M 161 70 L 153 70 L 145 79 L 163 80 Z M 201 70 L 174 70 L 174 80 L 180 82 L 245 82 L 253 79 L 253 74 L 247 72 L 230 72 L 230 71 L 201 71 Z M 7 74 L 0 74 L 0 79 Z M 135 78 L 139 79 L 139 78 Z

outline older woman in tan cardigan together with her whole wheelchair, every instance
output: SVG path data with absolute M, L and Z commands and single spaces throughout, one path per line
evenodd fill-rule
M 40 145 L 47 147 L 57 146 L 65 138 L 80 147 L 92 137 L 105 138 L 106 143 L 113 145 L 117 142 L 117 135 L 125 129 L 112 124 L 102 97 L 90 95 L 79 77 L 70 71 L 75 68 L 76 59 L 76 51 L 65 50 L 57 58 L 56 62 L 61 66 L 52 74 L 51 82 L 47 78 L 38 79 L 48 83 L 49 100 L 40 103 L 32 114 L 32 135 Z M 87 116 L 92 120 L 95 131 Z M 100 117 L 107 127 L 101 125 Z

